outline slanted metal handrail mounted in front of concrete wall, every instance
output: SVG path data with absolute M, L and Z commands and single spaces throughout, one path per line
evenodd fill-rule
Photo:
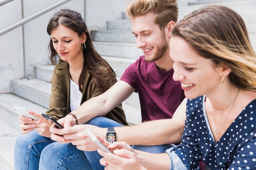
M 44 13 L 46 13 L 46 12 L 52 10 L 52 9 L 58 7 L 59 5 L 62 5 L 66 2 L 68 2 L 68 1 L 70 1 L 70 0 L 60 0 L 60 1 L 58 1 L 54 4 L 52 4 L 52 5 L 49 5 L 48 7 L 45 7 L 44 9 L 42 9 L 40 11 L 37 11 L 37 12 L 27 16 L 26 18 L 23 18 L 22 20 L 19 20 L 19 21 L 13 23 L 13 24 L 1 29 L 0 30 L 0 36 L 3 35 L 4 33 L 7 33 L 9 31 L 17 28 L 18 26 L 21 26 L 22 24 L 25 24 L 26 22 L 29 22 L 30 20 L 33 20 L 34 18 L 36 18 L 36 17 L 38 17 L 38 16 L 40 16 L 40 15 L 42 15 L 42 14 L 44 14 Z

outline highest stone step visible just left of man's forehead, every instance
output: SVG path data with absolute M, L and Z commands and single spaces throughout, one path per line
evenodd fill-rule
M 131 20 L 107 21 L 107 30 L 132 30 Z

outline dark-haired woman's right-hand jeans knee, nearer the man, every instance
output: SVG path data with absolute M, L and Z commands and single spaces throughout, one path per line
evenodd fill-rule
M 43 149 L 39 170 L 92 170 L 92 166 L 76 146 L 54 142 Z

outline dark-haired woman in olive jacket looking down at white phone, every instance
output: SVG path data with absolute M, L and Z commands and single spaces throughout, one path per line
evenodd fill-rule
M 56 120 L 65 116 L 77 120 L 75 115 L 69 113 L 79 108 L 86 100 L 107 91 L 117 82 L 116 75 L 109 64 L 95 51 L 88 28 L 80 13 L 61 9 L 49 20 L 47 33 L 51 36 L 49 58 L 56 66 L 52 75 L 52 94 L 46 114 Z M 58 64 L 55 63 L 56 56 L 59 57 Z M 52 123 L 38 113 L 33 111 L 29 113 L 37 120 L 19 117 L 22 135 L 16 139 L 14 151 L 16 170 L 38 170 L 45 147 L 51 149 L 54 148 L 54 143 L 58 143 L 50 139 L 49 128 Z M 127 125 L 121 104 L 105 117 Z M 88 116 L 87 121 L 92 118 L 94 118 L 93 115 Z M 83 123 L 85 122 L 76 121 L 76 124 Z M 107 124 L 107 122 L 102 123 Z M 90 165 L 83 151 L 72 144 L 67 145 L 70 145 L 68 152 L 76 152 L 72 156 L 79 159 L 77 169 Z M 48 155 L 49 161 L 50 156 Z M 68 160 L 63 160 L 63 163 L 65 161 Z M 76 165 L 73 163 L 72 166 Z

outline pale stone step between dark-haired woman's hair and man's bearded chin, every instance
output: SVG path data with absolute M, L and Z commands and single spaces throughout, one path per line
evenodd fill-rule
M 95 49 L 101 56 L 121 57 L 138 59 L 144 55 L 141 49 L 137 48 L 135 43 L 117 43 L 117 42 L 93 42 Z

